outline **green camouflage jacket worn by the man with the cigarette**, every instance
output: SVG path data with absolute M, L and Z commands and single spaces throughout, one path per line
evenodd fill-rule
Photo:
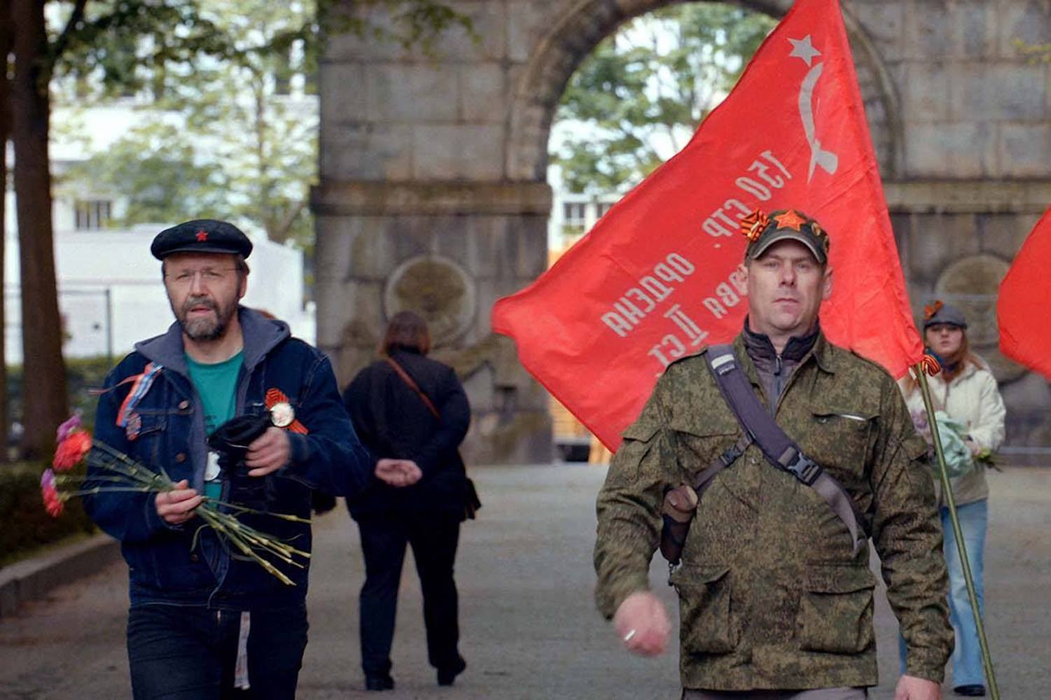
M 735 354 L 756 391 L 742 338 Z M 765 398 L 764 398 L 765 400 Z M 907 671 L 941 682 L 952 651 L 942 530 L 927 446 L 881 367 L 818 337 L 788 379 L 778 424 L 869 519 Z M 703 353 L 672 364 L 624 431 L 598 497 L 596 599 L 611 617 L 648 588 L 664 493 L 713 462 L 741 429 Z M 811 488 L 751 445 L 704 493 L 672 576 L 680 673 L 691 688 L 875 685 L 868 547 Z

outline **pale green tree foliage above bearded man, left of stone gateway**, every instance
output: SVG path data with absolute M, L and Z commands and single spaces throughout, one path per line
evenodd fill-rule
M 388 23 L 370 24 L 364 9 L 386 12 Z M 157 13 L 163 22 L 156 23 Z M 352 15 L 313 0 L 166 0 L 148 20 L 141 12 L 114 12 L 85 28 L 75 47 L 79 58 L 67 52 L 80 66 L 71 97 L 99 103 L 146 91 L 152 100 L 139 109 L 150 120 L 67 180 L 89 176 L 87 182 L 127 197 L 115 225 L 207 214 L 310 248 L 316 102 L 289 99 L 288 91 L 293 80 L 302 81 L 298 90 L 313 89 L 323 49 L 318 13 L 336 28 L 403 44 L 424 42 L 462 19 L 433 0 L 364 3 Z

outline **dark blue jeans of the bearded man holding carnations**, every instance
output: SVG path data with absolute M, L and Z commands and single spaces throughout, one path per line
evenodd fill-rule
M 128 613 L 135 700 L 295 698 L 307 609 L 256 611 L 248 635 L 251 687 L 233 688 L 241 612 L 199 605 L 136 605 Z

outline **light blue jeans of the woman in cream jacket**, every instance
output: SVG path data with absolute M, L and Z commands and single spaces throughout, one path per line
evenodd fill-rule
M 974 594 L 978 600 L 978 612 L 985 619 L 985 592 L 982 584 L 982 569 L 985 561 L 985 538 L 989 523 L 989 501 L 985 498 L 972 503 L 959 506 L 960 530 L 967 547 L 967 563 L 974 578 Z M 949 509 L 942 509 L 942 530 L 945 533 L 945 563 L 949 570 L 949 622 L 956 633 L 956 645 L 952 652 L 952 685 L 985 685 L 985 670 L 982 667 L 982 645 L 978 643 L 974 613 L 967 597 L 964 568 L 956 551 L 956 537 L 949 521 Z M 902 668 L 905 668 L 905 641 L 899 636 L 899 652 Z

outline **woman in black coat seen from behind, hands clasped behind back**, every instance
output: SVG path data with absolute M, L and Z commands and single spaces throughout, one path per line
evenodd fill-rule
M 419 574 L 428 659 L 437 668 L 438 684 L 452 685 L 467 667 L 457 650 L 453 563 L 467 487 L 458 448 L 471 407 L 453 369 L 427 357 L 430 347 L 420 316 L 395 314 L 380 347 L 383 359 L 362 370 L 343 395 L 354 430 L 374 455 L 415 461 L 421 472 L 418 481 L 400 487 L 373 478 L 347 503 L 365 555 L 359 603 L 369 691 L 394 687 L 390 652 L 407 543 Z

